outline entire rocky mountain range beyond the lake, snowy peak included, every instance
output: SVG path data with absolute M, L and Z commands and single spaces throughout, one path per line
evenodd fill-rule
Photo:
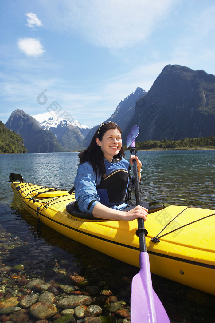
M 48 115 L 49 118 L 51 117 Z M 95 130 L 99 127 L 97 125 L 87 129 L 86 126 L 86 131 L 89 132 L 84 138 L 80 131 L 83 128 L 80 129 L 77 124 L 60 120 L 57 115 L 55 119 L 51 120 L 49 125 L 47 120 L 44 124 L 41 120 L 39 123 L 32 116 L 17 109 L 13 111 L 5 125 L 20 134 L 24 144 L 29 140 L 28 137 L 35 141 L 38 134 L 41 135 L 40 140 L 44 135 L 46 143 L 50 141 L 51 146 L 54 144 L 55 148 L 52 148 L 52 151 L 83 150 L 89 145 Z M 162 69 L 148 92 L 136 88 L 121 100 L 107 120 L 121 127 L 123 142 L 126 142 L 128 132 L 134 124 L 140 128 L 137 141 L 169 138 L 180 140 L 186 137 L 215 135 L 215 76 L 203 70 L 194 71 L 185 66 L 169 64 Z M 44 127 L 48 127 L 49 131 L 44 130 Z M 27 134 L 28 131 L 30 136 Z M 47 135 L 46 132 L 52 135 Z M 50 144 L 48 146 L 46 145 L 46 149 L 50 151 Z M 25 144 L 25 147 L 28 149 L 29 145 Z M 41 148 L 37 151 L 41 151 Z

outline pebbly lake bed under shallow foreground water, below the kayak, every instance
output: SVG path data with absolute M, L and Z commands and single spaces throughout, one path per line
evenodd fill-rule
M 86 276 L 79 276 L 70 269 L 68 259 L 54 258 L 38 264 L 30 259 L 21 262 L 7 243 L 14 243 L 13 248 L 16 244 L 27 246 L 17 237 L 0 234 L 0 321 L 130 323 L 131 280 L 133 270 L 138 268 L 122 263 L 115 277 L 114 271 L 109 273 L 99 266 L 86 266 Z M 102 254 L 98 255 L 99 262 L 109 268 Z M 118 281 L 120 273 L 121 282 Z M 215 303 L 212 295 L 155 275 L 152 282 L 171 322 L 211 321 Z

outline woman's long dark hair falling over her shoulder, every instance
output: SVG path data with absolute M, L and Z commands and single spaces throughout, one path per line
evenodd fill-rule
M 97 145 L 96 138 L 99 138 L 99 140 L 101 141 L 103 138 L 103 135 L 109 129 L 118 129 L 122 135 L 122 130 L 116 123 L 110 122 L 110 123 L 102 124 L 102 126 L 100 126 L 94 133 L 89 147 L 78 154 L 80 164 L 82 164 L 84 161 L 89 161 L 89 163 L 93 166 L 93 171 L 95 173 L 98 172 L 99 175 L 102 175 L 104 177 L 105 177 L 105 166 L 104 166 L 103 151 L 101 147 Z M 121 150 L 115 157 L 118 157 L 120 159 L 122 159 L 122 157 L 123 158 L 125 157 L 125 151 L 123 147 L 121 147 Z

